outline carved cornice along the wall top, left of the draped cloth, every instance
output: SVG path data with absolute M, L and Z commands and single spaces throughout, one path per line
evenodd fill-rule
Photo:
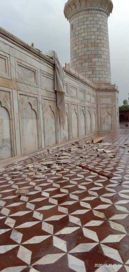
M 34 47 L 26 44 L 22 40 L 18 39 L 16 36 L 12 35 L 10 32 L 6 31 L 5 29 L 0 27 L 0 34 L 5 36 L 6 38 L 10 39 L 11 41 L 17 43 L 18 45 L 26 48 L 27 50 L 31 51 L 32 53 L 36 54 L 38 57 L 42 58 L 43 60 L 48 61 L 49 63 L 54 65 L 54 60 L 51 60 L 47 56 L 43 55 L 40 51 L 36 50 Z

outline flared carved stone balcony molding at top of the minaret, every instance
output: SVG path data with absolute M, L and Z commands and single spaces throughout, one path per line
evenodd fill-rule
M 70 20 L 72 16 L 82 11 L 87 13 L 103 12 L 110 16 L 112 10 L 113 4 L 111 0 L 68 0 L 64 7 L 64 15 L 67 20 Z

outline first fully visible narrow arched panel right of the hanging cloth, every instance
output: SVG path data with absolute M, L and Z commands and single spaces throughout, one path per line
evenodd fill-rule
M 78 107 L 77 105 L 71 105 L 71 116 L 72 116 L 72 137 L 78 137 Z

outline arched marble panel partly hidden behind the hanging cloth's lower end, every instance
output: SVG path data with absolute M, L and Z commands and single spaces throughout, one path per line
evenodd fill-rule
M 66 106 L 66 118 L 64 129 L 61 127 L 61 142 L 69 140 L 69 108 L 68 103 L 65 103 Z

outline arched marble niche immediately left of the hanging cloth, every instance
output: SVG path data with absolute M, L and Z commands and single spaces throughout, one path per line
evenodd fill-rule
M 53 101 L 52 101 L 53 102 Z M 56 118 L 51 105 L 44 110 L 45 146 L 56 144 Z

